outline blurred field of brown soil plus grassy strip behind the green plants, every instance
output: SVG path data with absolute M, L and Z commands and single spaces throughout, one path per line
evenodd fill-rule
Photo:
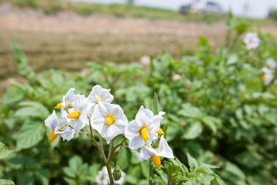
M 130 62 L 163 51 L 191 53 L 199 35 L 219 46 L 226 15 L 181 15 L 176 10 L 66 1 L 12 0 L 0 5 L 1 94 L 17 78 L 10 42 L 17 42 L 35 71 L 84 68 L 87 61 Z M 273 20 L 248 19 L 277 34 Z

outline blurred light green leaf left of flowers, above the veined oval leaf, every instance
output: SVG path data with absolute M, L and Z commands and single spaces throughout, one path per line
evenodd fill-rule
M 41 103 L 36 102 L 22 102 L 19 104 L 20 106 L 24 106 L 21 109 L 18 109 L 15 112 L 15 116 L 17 117 L 38 117 L 38 118 L 46 118 L 49 115 L 48 109 L 44 107 Z

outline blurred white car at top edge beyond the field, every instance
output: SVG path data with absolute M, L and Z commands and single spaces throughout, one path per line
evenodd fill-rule
M 215 1 L 199 0 L 181 6 L 179 12 L 181 14 L 186 14 L 188 12 L 222 14 L 223 10 L 221 6 Z

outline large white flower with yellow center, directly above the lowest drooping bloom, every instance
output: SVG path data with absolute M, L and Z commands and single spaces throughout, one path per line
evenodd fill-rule
M 129 139 L 129 148 L 140 148 L 146 143 L 152 143 L 159 130 L 163 114 L 166 113 L 159 112 L 158 115 L 154 116 L 150 109 L 141 106 L 136 118 L 125 129 L 125 137 Z

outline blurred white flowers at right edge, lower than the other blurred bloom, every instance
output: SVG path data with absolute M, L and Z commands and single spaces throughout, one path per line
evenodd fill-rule
M 274 80 L 274 73 L 277 69 L 277 62 L 273 58 L 267 59 L 267 67 L 262 67 L 262 81 L 269 85 Z

